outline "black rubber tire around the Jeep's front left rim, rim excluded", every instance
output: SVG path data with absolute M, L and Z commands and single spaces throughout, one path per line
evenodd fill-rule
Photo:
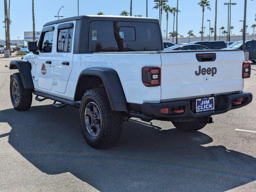
M 18 92 L 19 92 L 18 102 L 14 101 L 14 98 L 12 95 L 14 82 L 16 82 L 16 84 L 18 85 Z M 18 110 L 18 111 L 29 110 L 32 103 L 32 91 L 33 91 L 32 89 L 24 88 L 19 73 L 12 74 L 12 76 L 10 77 L 10 98 L 12 101 L 12 106 L 14 107 L 15 110 Z

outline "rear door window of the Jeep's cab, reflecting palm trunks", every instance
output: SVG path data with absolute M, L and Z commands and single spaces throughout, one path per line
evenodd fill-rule
M 58 52 L 71 52 L 73 28 L 59 29 L 57 39 Z

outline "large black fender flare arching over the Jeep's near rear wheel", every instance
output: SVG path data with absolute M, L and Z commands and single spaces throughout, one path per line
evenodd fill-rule
M 80 82 L 80 78 L 82 76 L 98 76 L 99 78 L 101 78 L 106 89 L 106 93 L 108 94 L 112 110 L 124 112 L 128 111 L 123 87 L 119 76 L 115 70 L 104 67 L 93 67 L 82 70 L 76 84 L 76 91 L 78 88 L 78 83 Z

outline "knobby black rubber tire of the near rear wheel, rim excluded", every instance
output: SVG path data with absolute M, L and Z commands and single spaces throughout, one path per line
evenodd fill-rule
M 90 102 L 97 105 L 101 115 L 101 127 L 97 136 L 92 136 L 86 128 L 85 110 Z M 121 112 L 111 110 L 109 98 L 104 88 L 86 91 L 82 96 L 79 112 L 82 134 L 91 147 L 108 148 L 119 140 L 122 131 Z

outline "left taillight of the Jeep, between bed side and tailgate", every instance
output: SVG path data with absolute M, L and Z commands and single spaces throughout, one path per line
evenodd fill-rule
M 161 85 L 161 68 L 159 67 L 143 67 L 142 68 L 142 82 L 147 87 L 154 87 Z

